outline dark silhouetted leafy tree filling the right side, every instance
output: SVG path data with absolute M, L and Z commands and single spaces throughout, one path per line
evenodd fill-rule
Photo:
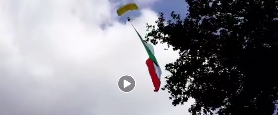
M 166 43 L 179 58 L 165 66 L 174 106 L 189 97 L 193 115 L 272 115 L 278 103 L 278 2 L 186 0 L 185 19 L 172 12 L 146 41 Z

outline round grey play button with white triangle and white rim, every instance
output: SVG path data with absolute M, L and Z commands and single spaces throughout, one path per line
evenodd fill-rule
M 123 75 L 118 80 L 118 88 L 124 93 L 129 93 L 133 91 L 135 85 L 135 80 L 130 75 Z

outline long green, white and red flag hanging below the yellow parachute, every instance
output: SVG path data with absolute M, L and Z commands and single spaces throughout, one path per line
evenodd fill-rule
M 133 26 L 133 24 L 131 24 L 131 25 Z M 134 28 L 134 26 L 133 26 L 133 28 Z M 160 88 L 160 76 L 161 76 L 162 72 L 161 72 L 161 69 L 156 60 L 156 57 L 154 56 L 153 46 L 151 44 L 145 42 L 135 28 L 134 28 L 134 30 L 136 31 L 138 37 L 140 38 L 141 42 L 143 43 L 143 45 L 149 55 L 149 58 L 147 59 L 146 64 L 149 69 L 149 74 L 151 76 L 151 80 L 153 81 L 153 87 L 154 87 L 153 91 L 157 92 Z

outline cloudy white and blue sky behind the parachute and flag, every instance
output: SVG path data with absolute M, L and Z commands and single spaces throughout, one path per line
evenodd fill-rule
M 158 12 L 186 14 L 177 0 L 0 0 L 1 115 L 187 115 L 193 103 L 173 107 L 167 91 L 153 92 L 148 55 L 132 26 L 116 14 L 136 2 L 139 33 Z M 178 53 L 155 46 L 162 68 Z M 136 88 L 118 89 L 122 75 Z

